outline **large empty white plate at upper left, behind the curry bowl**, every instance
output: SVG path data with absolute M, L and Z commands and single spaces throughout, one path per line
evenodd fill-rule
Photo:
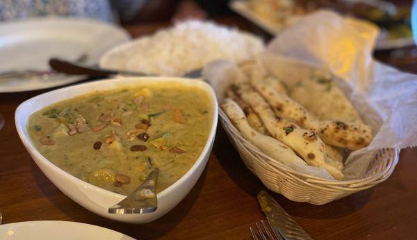
M 108 49 L 127 42 L 128 33 L 117 26 L 90 19 L 44 17 L 0 23 L 0 72 L 49 70 L 51 57 L 97 64 Z M 0 93 L 21 92 L 74 83 L 83 76 L 58 76 L 48 80 L 16 79 L 0 82 Z

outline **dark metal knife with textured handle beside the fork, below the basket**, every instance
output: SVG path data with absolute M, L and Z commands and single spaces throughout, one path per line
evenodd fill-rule
M 287 212 L 279 206 L 272 195 L 266 191 L 258 193 L 258 201 L 263 214 L 268 218 L 272 227 L 286 240 L 313 240 L 302 230 Z

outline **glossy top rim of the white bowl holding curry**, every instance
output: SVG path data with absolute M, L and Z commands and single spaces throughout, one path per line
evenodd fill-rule
M 104 87 L 104 86 L 106 86 L 106 83 L 107 83 L 107 85 L 109 85 L 108 83 L 113 83 L 115 81 L 119 81 L 120 84 L 118 86 L 110 86 L 110 87 L 107 87 L 107 88 Z M 135 83 L 135 81 L 136 81 L 136 83 Z M 51 91 L 48 91 L 47 93 L 42 93 L 42 94 L 37 95 L 35 97 L 31 97 L 30 99 L 27 99 L 26 101 L 19 104 L 19 106 L 17 106 L 17 109 L 15 111 L 15 127 L 17 129 L 17 134 L 19 134 L 19 138 L 22 141 L 22 143 L 24 144 L 24 146 L 26 148 L 30 148 L 31 150 L 33 150 L 31 152 L 33 154 L 35 154 L 35 157 L 40 159 L 42 162 L 46 163 L 49 167 L 53 168 L 54 171 L 57 171 L 61 175 L 65 175 L 65 177 L 68 177 L 69 179 L 71 179 L 72 181 L 75 181 L 78 184 L 88 186 L 89 189 L 94 189 L 95 191 L 97 191 L 101 194 L 106 194 L 108 196 L 111 196 L 111 197 L 114 197 L 114 198 L 120 198 L 120 199 L 126 198 L 126 195 L 123 195 L 123 194 L 120 194 L 120 193 L 115 193 L 113 191 L 109 191 L 109 190 L 103 189 L 99 186 L 95 186 L 93 184 L 85 182 L 82 179 L 79 179 L 78 177 L 75 177 L 74 175 L 71 175 L 70 173 L 67 173 L 65 170 L 59 168 L 54 163 L 49 161 L 46 157 L 44 157 L 35 148 L 31 139 L 27 135 L 26 126 L 27 126 L 27 123 L 28 123 L 28 118 L 26 120 L 24 120 L 24 123 L 25 123 L 24 126 L 20 125 L 19 119 L 22 118 L 22 113 L 23 113 L 23 109 L 24 109 L 25 106 L 27 106 L 29 104 L 35 104 L 35 102 L 41 101 L 42 99 L 46 99 L 47 97 L 49 97 L 51 95 L 56 95 L 58 93 L 63 93 L 63 92 L 74 93 L 74 95 L 72 95 L 72 97 L 65 98 L 65 99 L 70 99 L 70 98 L 73 98 L 73 97 L 79 97 L 81 95 L 85 95 L 85 94 L 88 94 L 90 92 L 95 91 L 95 90 L 90 90 L 90 92 L 87 92 L 87 93 L 76 93 L 76 90 L 88 88 L 89 86 L 100 86 L 100 84 L 104 84 L 101 88 L 99 87 L 99 89 L 97 89 L 97 90 L 104 90 L 105 91 L 105 90 L 113 90 L 113 89 L 117 89 L 117 88 L 123 88 L 123 86 L 135 86 L 135 85 L 140 86 L 141 84 L 143 84 L 143 82 L 146 82 L 146 81 L 149 81 L 149 82 L 152 82 L 152 83 L 155 83 L 156 81 L 175 82 L 175 83 L 183 84 L 184 86 L 195 86 L 197 88 L 200 88 L 200 89 L 204 90 L 205 93 L 207 93 L 207 95 L 208 95 L 208 97 L 210 98 L 210 101 L 211 101 L 211 107 L 213 109 L 213 115 L 211 117 L 212 122 L 211 122 L 210 133 L 208 134 L 208 137 L 206 139 L 206 144 L 204 145 L 204 148 L 203 148 L 202 152 L 199 154 L 199 157 L 197 157 L 197 159 L 195 160 L 195 163 L 193 164 L 193 166 L 191 166 L 191 168 L 188 169 L 188 171 L 184 175 L 182 175 L 176 182 L 174 182 L 173 184 L 168 186 L 166 189 L 164 189 L 163 191 L 156 194 L 157 197 L 161 199 L 161 198 L 165 197 L 165 195 L 169 195 L 172 191 L 174 191 L 179 186 L 181 186 L 186 181 L 186 179 L 190 178 L 191 175 L 193 173 L 195 173 L 198 166 L 203 162 L 204 157 L 207 154 L 210 154 L 209 150 L 211 149 L 211 143 L 214 141 L 215 133 L 216 133 L 217 125 L 218 125 L 218 104 L 217 104 L 217 97 L 214 93 L 213 88 L 211 88 L 211 86 L 208 85 L 208 83 L 202 81 L 202 79 L 186 79 L 186 78 L 181 78 L 181 77 L 119 77 L 119 78 L 116 77 L 116 78 L 111 78 L 111 79 L 102 79 L 102 80 L 99 80 L 99 81 L 92 81 L 92 82 L 88 82 L 88 83 L 79 83 L 79 84 L 75 84 L 75 85 L 72 85 L 72 86 L 67 86 L 65 88 L 59 88 L 59 89 L 56 89 L 56 90 L 51 90 Z M 51 104 L 55 104 L 57 102 L 64 101 L 65 99 L 60 99 L 58 101 L 56 101 L 56 100 L 55 101 L 48 101 L 48 104 L 46 106 L 50 106 Z M 30 115 L 32 115 L 33 113 L 35 113 L 35 111 L 32 111 L 30 113 Z M 29 152 L 28 149 L 27 149 L 27 151 Z M 31 158 L 33 159 L 33 157 L 31 157 Z M 35 161 L 35 159 L 33 159 L 33 161 Z M 51 179 L 49 179 L 49 180 L 52 182 Z M 54 184 L 54 182 L 52 182 L 52 183 Z

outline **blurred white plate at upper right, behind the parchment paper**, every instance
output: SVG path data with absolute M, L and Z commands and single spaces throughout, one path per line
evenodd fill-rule
M 229 6 L 236 13 L 250 20 L 250 22 L 253 22 L 257 26 L 259 26 L 261 29 L 266 31 L 267 33 L 270 33 L 270 35 L 278 35 L 279 33 L 281 33 L 281 31 L 284 30 L 283 26 L 273 24 L 272 22 L 269 22 L 259 17 L 254 12 L 252 12 L 252 10 L 247 8 L 246 1 L 243 1 L 243 0 L 231 1 Z M 385 36 L 382 36 L 382 38 L 379 38 L 377 40 L 377 45 L 375 45 L 375 49 L 377 50 L 393 49 L 393 48 L 398 48 L 398 47 L 407 47 L 407 46 L 414 45 L 413 38 L 398 38 L 398 39 L 386 40 L 384 39 L 384 37 Z

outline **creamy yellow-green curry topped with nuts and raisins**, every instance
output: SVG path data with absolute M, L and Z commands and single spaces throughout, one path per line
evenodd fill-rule
M 48 106 L 31 115 L 28 133 L 44 157 L 85 182 L 127 194 L 159 168 L 162 191 L 206 145 L 210 103 L 199 88 L 148 83 Z

